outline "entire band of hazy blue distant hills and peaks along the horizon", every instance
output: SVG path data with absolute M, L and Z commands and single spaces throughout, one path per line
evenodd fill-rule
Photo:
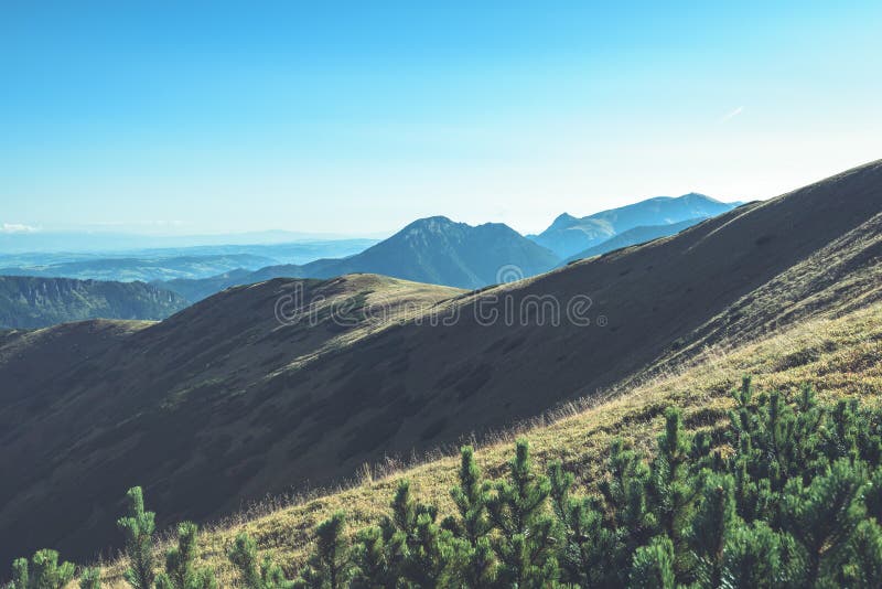
M 677 233 L 719 211 L 728 210 L 712 199 L 688 194 L 656 197 L 582 219 L 561 215 L 541 235 L 525 238 L 510 227 L 487 223 L 470 226 L 437 216 L 415 221 L 383 242 L 342 239 L 256 245 L 204 245 L 181 248 L 117 251 L 31 251 L 0 255 L 0 276 L 35 276 L 107 281 L 148 281 L 171 290 L 190 302 L 225 288 L 271 278 L 331 278 L 352 272 L 380 274 L 407 280 L 484 288 L 526 278 L 561 264 L 558 253 L 570 246 L 594 244 L 563 263 Z M 676 221 L 682 215 L 697 215 Z M 655 225 L 632 226 L 653 221 Z M 20 236 L 19 236 L 20 237 Z M 41 242 L 42 243 L 42 242 Z M 44 244 L 45 245 L 45 244 Z M 280 264 L 281 261 L 281 264 Z M 117 288 L 120 293 L 126 289 Z M 73 292 L 73 291 L 61 291 Z M 82 299 L 76 304 L 103 309 Z M 137 297 L 136 290 L 130 290 Z M 57 302 L 57 301 L 56 301 Z M 2 302 L 0 302 L 2 304 Z M 76 304 L 74 307 L 76 307 Z M 100 317 L 74 312 L 47 315 L 58 322 Z M 137 301 L 132 301 L 132 309 Z M 11 313 L 8 309 L 8 314 Z M 108 318 L 118 318 L 117 314 Z M 150 313 L 135 319 L 161 319 Z M 37 321 L 36 324 L 44 325 Z

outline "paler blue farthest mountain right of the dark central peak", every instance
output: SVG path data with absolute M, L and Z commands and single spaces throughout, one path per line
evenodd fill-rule
M 546 231 L 529 237 L 561 258 L 568 258 L 634 227 L 707 218 L 734 207 L 734 204 L 721 203 L 697 193 L 677 197 L 656 196 L 582 218 L 563 213 Z

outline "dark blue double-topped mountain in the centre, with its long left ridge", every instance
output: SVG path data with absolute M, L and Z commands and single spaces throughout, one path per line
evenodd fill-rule
M 486 223 L 473 227 L 437 216 L 415 221 L 388 239 L 347 258 L 270 266 L 248 275 L 230 272 L 206 280 L 173 280 L 165 287 L 197 301 L 234 285 L 270 278 L 370 272 L 432 285 L 481 288 L 544 272 L 558 261 L 555 254 L 507 225 Z

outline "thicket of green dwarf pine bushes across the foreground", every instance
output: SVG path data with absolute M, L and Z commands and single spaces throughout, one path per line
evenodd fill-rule
M 322 522 L 299 572 L 260 558 L 256 542 L 239 534 L 227 548 L 236 582 L 247 589 L 882 587 L 882 411 L 857 400 L 821 404 L 810 388 L 793 398 L 757 394 L 750 379 L 733 398 L 728 425 L 712 433 L 689 433 L 671 408 L 650 454 L 613 440 L 598 479 L 579 481 L 588 493 L 560 462 L 539 471 L 524 439 L 496 481 L 484 478 L 465 447 L 453 513 L 441 516 L 404 480 L 377 525 L 351 534 L 343 513 Z M 139 489 L 129 492 L 120 528 L 126 578 L 152 589 L 153 514 L 144 512 Z M 196 566 L 195 537 L 195 525 L 179 527 L 157 588 L 214 587 L 211 571 Z M 15 560 L 13 587 L 54 589 L 52 582 L 69 580 L 73 566 L 45 553 Z M 35 585 L 36 575 L 49 580 Z M 89 575 L 80 586 L 98 587 Z

